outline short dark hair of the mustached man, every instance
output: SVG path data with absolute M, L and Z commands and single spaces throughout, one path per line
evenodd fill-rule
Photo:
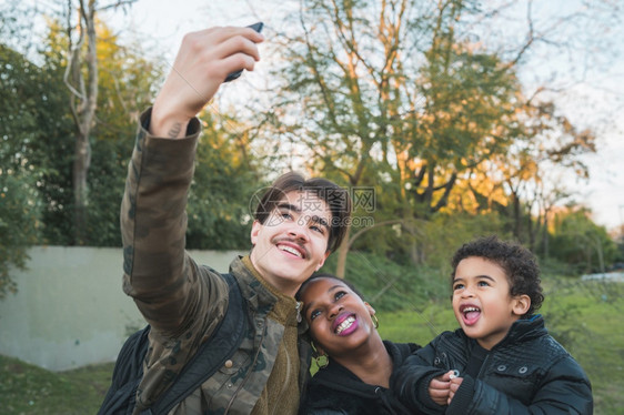
M 326 179 L 305 179 L 296 172 L 289 172 L 275 180 L 255 209 L 254 219 L 264 224 L 278 204 L 290 192 L 310 192 L 324 201 L 331 213 L 328 251 L 335 251 L 342 243 L 351 217 L 351 198 L 346 189 Z

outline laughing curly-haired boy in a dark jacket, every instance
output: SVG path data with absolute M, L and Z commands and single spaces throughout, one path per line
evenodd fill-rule
M 424 414 L 592 414 L 590 381 L 533 314 L 544 300 L 533 254 L 496 236 L 451 261 L 461 328 L 407 357 L 391 388 Z

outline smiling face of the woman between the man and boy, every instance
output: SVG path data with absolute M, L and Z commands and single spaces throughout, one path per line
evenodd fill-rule
M 305 285 L 300 298 L 316 348 L 332 357 L 349 355 L 375 330 L 373 307 L 340 280 L 315 279 Z

